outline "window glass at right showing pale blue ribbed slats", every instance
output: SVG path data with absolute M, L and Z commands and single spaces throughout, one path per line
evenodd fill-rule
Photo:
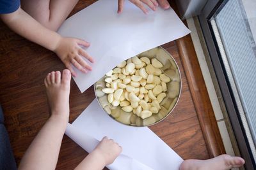
M 237 106 L 241 103 L 239 112 L 243 112 L 246 118 L 254 145 L 256 143 L 255 9 L 255 0 L 230 0 L 211 20 L 228 80 L 231 86 L 232 83 L 234 84 L 233 92 L 237 93 L 237 96 L 234 95 Z M 225 60 L 227 60 L 226 64 Z

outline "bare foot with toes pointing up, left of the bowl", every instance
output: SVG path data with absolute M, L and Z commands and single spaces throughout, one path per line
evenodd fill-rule
M 69 92 L 71 74 L 64 69 L 62 77 L 60 71 L 48 73 L 44 84 L 46 87 L 47 99 L 52 115 L 60 115 L 68 121 L 69 116 Z

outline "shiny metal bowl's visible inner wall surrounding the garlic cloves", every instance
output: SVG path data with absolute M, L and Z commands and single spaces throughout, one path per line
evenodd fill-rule
M 103 76 L 102 78 L 100 78 L 99 81 L 94 84 L 94 91 L 101 108 L 106 111 L 106 114 L 108 114 L 109 117 L 113 118 L 117 122 L 120 122 L 121 124 L 136 127 L 145 127 L 161 122 L 161 120 L 164 120 L 164 118 L 168 117 L 168 115 L 172 113 L 173 109 L 179 101 L 182 83 L 180 70 L 177 62 L 175 62 L 172 55 L 164 50 L 164 48 L 152 48 L 151 50 L 140 53 L 137 56 L 139 58 L 148 57 L 149 59 L 156 58 L 157 60 L 159 60 L 163 64 L 161 70 L 164 72 L 164 74 L 166 74 L 166 76 L 170 77 L 172 80 L 166 83 L 166 97 L 164 97 L 163 101 L 160 103 L 161 109 L 158 113 L 154 113 L 151 117 L 142 119 L 132 112 L 128 113 L 123 111 L 120 106 L 113 107 L 112 104 L 108 103 L 107 94 L 104 94 L 100 97 L 97 96 L 96 90 L 101 90 L 102 88 L 106 87 L 106 82 L 104 81 L 106 76 Z

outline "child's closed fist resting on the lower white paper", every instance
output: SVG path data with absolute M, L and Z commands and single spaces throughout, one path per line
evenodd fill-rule
M 104 161 L 105 166 L 112 164 L 116 157 L 122 152 L 122 147 L 115 143 L 113 139 L 108 139 L 106 136 L 100 141 L 94 152 L 99 153 Z

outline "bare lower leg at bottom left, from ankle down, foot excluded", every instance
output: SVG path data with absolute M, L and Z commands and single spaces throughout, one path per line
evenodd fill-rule
M 24 154 L 19 169 L 55 169 L 67 122 L 67 118 L 52 115 Z

